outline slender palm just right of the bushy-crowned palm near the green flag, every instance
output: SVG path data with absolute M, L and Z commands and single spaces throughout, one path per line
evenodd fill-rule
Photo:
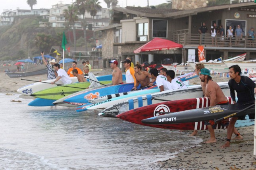
M 87 9 L 87 2 L 88 2 L 88 0 L 76 0 L 76 2 L 75 2 L 75 5 L 79 9 L 79 13 L 81 15 L 83 15 L 83 21 L 81 22 L 81 25 L 83 27 L 83 32 L 84 32 L 84 37 L 85 37 L 85 51 L 88 51 L 87 40 L 86 40 L 86 38 L 87 38 L 87 34 L 86 34 L 87 22 L 85 19 L 85 11 Z

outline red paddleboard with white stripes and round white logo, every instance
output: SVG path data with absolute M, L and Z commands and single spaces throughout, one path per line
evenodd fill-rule
M 231 97 L 227 97 L 229 103 L 231 103 Z M 139 125 L 157 127 L 157 128 L 167 128 L 167 129 L 181 129 L 181 130 L 205 130 L 207 126 L 204 122 L 191 122 L 191 123 L 179 123 L 179 124 L 163 124 L 163 125 L 150 125 L 141 122 L 143 119 L 150 117 L 156 117 L 162 114 L 156 114 L 156 111 L 160 112 L 177 112 L 184 110 L 191 110 L 196 108 L 204 108 L 210 106 L 210 100 L 208 98 L 191 98 L 185 100 L 174 100 L 169 102 L 162 102 L 158 104 L 152 104 L 144 106 L 141 108 L 136 108 L 133 110 L 125 111 L 118 114 L 116 117 L 136 123 Z M 244 125 L 249 126 L 249 125 Z M 221 127 L 220 123 L 216 126 L 216 129 L 225 128 Z

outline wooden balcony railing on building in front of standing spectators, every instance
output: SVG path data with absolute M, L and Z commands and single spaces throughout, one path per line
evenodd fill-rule
M 255 39 L 255 38 L 254 38 Z M 244 50 L 256 48 L 256 41 L 249 36 L 242 38 L 227 37 L 211 34 L 177 34 L 177 43 L 183 44 L 186 48 L 197 48 L 198 45 L 204 45 L 208 49 L 231 49 Z

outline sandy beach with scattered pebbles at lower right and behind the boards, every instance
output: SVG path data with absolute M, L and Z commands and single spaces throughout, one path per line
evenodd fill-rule
M 111 74 L 110 68 L 106 70 L 92 71 L 96 76 Z M 46 74 L 40 76 L 23 77 L 24 79 L 43 81 L 46 80 Z M 227 77 L 213 76 L 213 80 L 216 82 L 228 81 Z M 0 93 L 17 93 L 16 90 L 24 85 L 31 84 L 31 81 L 24 81 L 21 78 L 10 78 L 4 72 L 0 73 Z M 199 79 L 191 79 L 191 84 L 198 84 Z M 21 96 L 22 97 L 22 96 Z M 23 96 L 24 97 L 24 96 Z M 25 98 L 33 98 L 31 96 Z M 231 147 L 219 148 L 225 143 L 226 130 L 216 130 L 216 143 L 204 144 L 210 134 L 208 131 L 198 131 L 199 138 L 202 138 L 203 142 L 197 146 L 188 148 L 185 151 L 178 153 L 174 158 L 163 160 L 158 162 L 162 169 L 168 170 L 200 170 L 200 169 L 256 169 L 256 156 L 253 155 L 253 142 L 254 142 L 254 127 L 238 128 L 239 132 L 243 136 L 243 140 L 231 140 Z M 188 135 L 191 131 L 185 131 Z M 232 136 L 235 137 L 234 135 Z M 195 138 L 195 137 L 191 137 Z

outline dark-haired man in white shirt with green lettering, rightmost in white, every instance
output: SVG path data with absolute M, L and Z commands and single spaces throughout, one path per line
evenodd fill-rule
M 175 78 L 175 72 L 173 70 L 168 70 L 166 72 L 167 81 L 169 81 L 169 89 L 183 89 L 187 86 L 179 79 Z

